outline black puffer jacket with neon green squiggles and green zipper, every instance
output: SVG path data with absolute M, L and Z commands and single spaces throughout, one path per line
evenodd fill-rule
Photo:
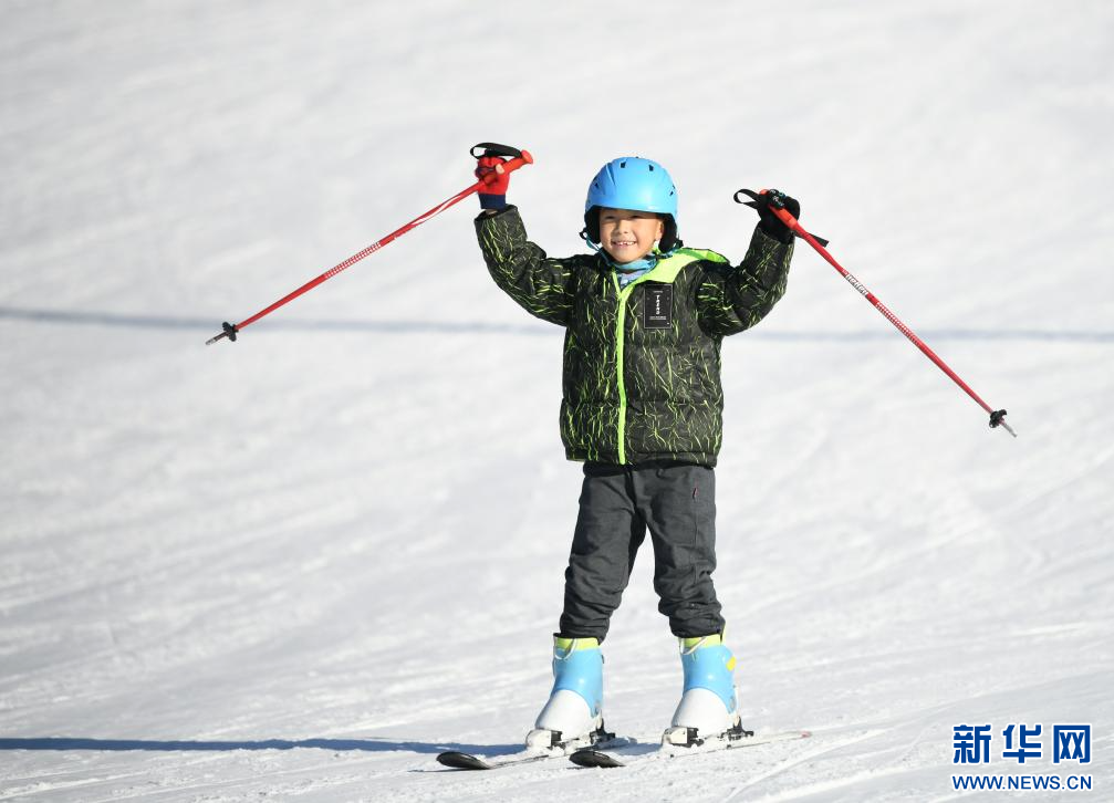
M 565 327 L 560 434 L 569 460 L 680 460 L 715 466 L 723 441 L 723 339 L 761 321 L 785 293 L 793 245 L 754 229 L 739 267 L 678 248 L 625 287 L 599 254 L 555 259 L 518 209 L 476 219 L 496 284 Z

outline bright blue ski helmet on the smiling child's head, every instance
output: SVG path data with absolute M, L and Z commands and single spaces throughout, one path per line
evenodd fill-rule
M 670 173 L 652 159 L 620 156 L 602 168 L 588 185 L 588 199 L 584 203 L 584 234 L 599 243 L 599 208 L 636 209 L 654 212 L 665 223 L 665 234 L 659 247 L 673 251 L 677 239 L 677 188 Z

